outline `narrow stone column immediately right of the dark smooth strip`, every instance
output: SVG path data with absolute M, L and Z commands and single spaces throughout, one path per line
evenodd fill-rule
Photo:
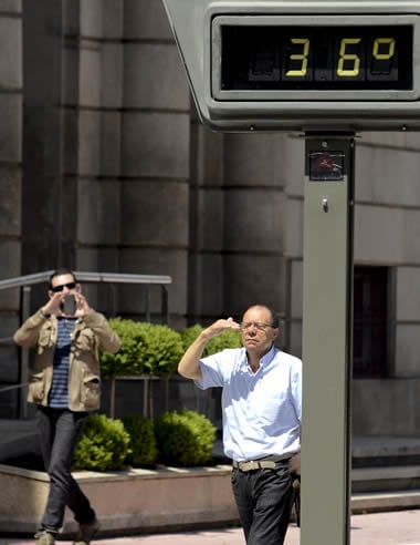
M 77 270 L 118 271 L 123 2 L 67 6 L 65 187 L 76 216 L 66 239 Z M 108 288 L 84 289 L 107 311 Z

